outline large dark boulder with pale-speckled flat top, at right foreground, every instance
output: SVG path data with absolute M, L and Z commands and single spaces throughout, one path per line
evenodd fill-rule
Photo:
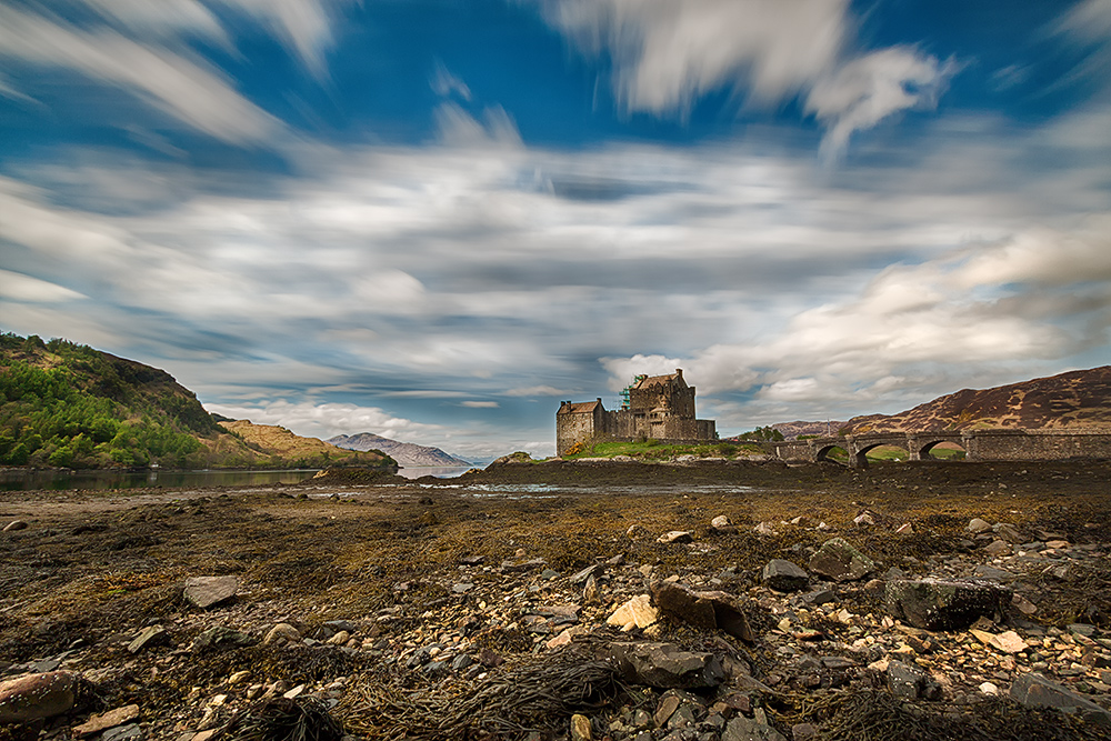
M 979 618 L 1007 615 L 1011 590 L 985 581 L 895 579 L 884 587 L 893 618 L 924 630 L 964 630 Z

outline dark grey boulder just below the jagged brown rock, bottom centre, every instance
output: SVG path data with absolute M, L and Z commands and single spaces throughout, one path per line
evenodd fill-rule
M 725 679 L 714 654 L 671 643 L 613 643 L 609 654 L 630 684 L 692 690 L 718 687 Z

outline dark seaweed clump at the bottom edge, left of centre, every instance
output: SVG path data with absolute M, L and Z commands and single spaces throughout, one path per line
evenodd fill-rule
M 340 741 L 343 727 L 316 698 L 277 698 L 236 714 L 220 741 Z

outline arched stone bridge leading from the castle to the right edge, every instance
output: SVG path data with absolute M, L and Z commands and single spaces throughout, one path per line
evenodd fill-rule
M 1069 458 L 1111 459 L 1111 432 L 1094 430 L 950 430 L 920 432 L 874 432 L 871 434 L 770 443 L 784 460 L 825 460 L 841 448 L 849 453 L 849 465 L 865 468 L 868 451 L 894 445 L 909 453 L 912 461 L 930 458 L 942 442 L 964 449 L 967 461 L 1054 461 Z

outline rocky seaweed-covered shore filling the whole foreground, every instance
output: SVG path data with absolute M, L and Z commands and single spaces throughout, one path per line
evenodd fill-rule
M 4 493 L 0 739 L 1111 738 L 1108 481 L 522 463 Z

